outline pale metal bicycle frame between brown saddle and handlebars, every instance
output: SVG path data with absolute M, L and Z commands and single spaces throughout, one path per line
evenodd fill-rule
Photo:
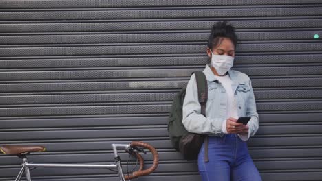
M 23 172 L 25 172 L 25 178 L 28 181 L 31 181 L 30 176 L 30 167 L 55 167 L 55 168 L 90 168 L 90 169 L 111 169 L 116 168 L 118 169 L 118 178 L 120 181 L 125 181 L 123 171 L 122 171 L 122 165 L 120 162 L 120 157 L 118 156 L 118 148 L 124 148 L 127 149 L 130 144 L 112 144 L 113 152 L 114 152 L 114 158 L 115 158 L 115 164 L 107 164 L 107 165 L 96 165 L 96 164 L 56 164 L 56 163 L 29 163 L 27 158 L 23 158 L 23 164 L 22 167 L 18 173 L 18 176 L 15 181 L 20 181 L 21 176 L 23 175 Z

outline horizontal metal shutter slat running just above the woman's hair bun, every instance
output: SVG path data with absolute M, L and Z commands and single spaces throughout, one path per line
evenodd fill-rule
M 254 17 L 254 16 L 319 16 L 321 7 L 310 8 L 215 8 L 188 10 L 96 10 L 96 11 L 28 11 L 0 12 L 0 21 L 5 20 L 84 20 L 84 19 L 178 19 L 206 17 Z

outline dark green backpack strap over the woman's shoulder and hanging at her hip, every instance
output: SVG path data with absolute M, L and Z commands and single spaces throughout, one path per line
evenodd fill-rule
M 208 99 L 208 82 L 206 75 L 202 71 L 195 71 L 195 80 L 197 81 L 198 100 L 201 106 L 201 113 L 206 117 L 206 104 Z M 208 158 L 208 136 L 204 136 L 204 162 L 209 162 Z

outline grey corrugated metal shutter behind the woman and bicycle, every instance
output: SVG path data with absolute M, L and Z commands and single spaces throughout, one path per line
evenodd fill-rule
M 160 166 L 140 180 L 200 180 L 167 137 L 171 99 L 206 64 L 215 21 L 240 38 L 260 129 L 248 142 L 264 180 L 322 180 L 322 1 L 0 1 L 0 143 L 45 145 L 32 162 L 112 162 L 111 143 L 147 141 Z M 125 159 L 127 156 L 122 155 Z M 0 155 L 0 180 L 15 156 Z M 151 164 L 151 158 L 148 158 Z M 34 180 L 115 180 L 35 169 Z

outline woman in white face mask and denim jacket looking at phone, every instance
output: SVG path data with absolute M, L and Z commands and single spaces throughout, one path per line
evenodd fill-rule
M 186 130 L 209 135 L 208 158 L 204 162 L 204 145 L 198 156 L 202 180 L 261 180 L 246 141 L 258 130 L 258 114 L 249 77 L 233 67 L 237 36 L 226 21 L 213 25 L 207 54 L 211 60 L 204 74 L 208 81 L 206 117 L 200 114 L 195 75 L 186 88 L 183 120 Z M 251 117 L 247 125 L 239 117 Z

